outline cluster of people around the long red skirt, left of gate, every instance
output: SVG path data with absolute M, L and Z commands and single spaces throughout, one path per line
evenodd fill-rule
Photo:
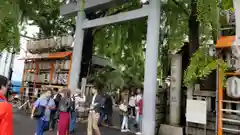
M 69 89 L 42 94 L 34 103 L 31 118 L 37 120 L 36 135 L 55 130 L 58 123 L 58 135 L 75 132 L 78 109 L 86 100 L 81 93 L 71 94 Z M 80 107 L 81 106 L 81 107 Z

